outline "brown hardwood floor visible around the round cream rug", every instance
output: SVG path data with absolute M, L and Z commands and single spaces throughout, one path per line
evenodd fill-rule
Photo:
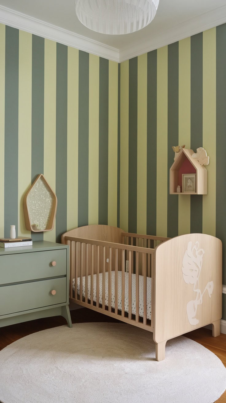
M 118 322 L 114 318 L 99 314 L 98 312 L 83 308 L 73 310 L 70 312 L 72 323 L 83 322 Z M 52 318 L 43 318 L 37 320 L 31 320 L 29 322 L 23 322 L 11 326 L 5 326 L 0 328 L 0 350 L 13 343 L 14 341 L 21 339 L 21 337 L 28 334 L 39 332 L 48 328 L 61 326 L 66 323 L 66 320 L 61 316 L 55 316 Z M 216 354 L 223 364 L 226 366 L 226 334 L 220 334 L 218 337 L 212 337 L 211 330 L 201 328 L 187 333 L 186 337 L 202 344 L 204 347 Z M 182 403 L 182 402 L 181 402 Z M 226 391 L 217 400 L 217 403 L 226 403 Z

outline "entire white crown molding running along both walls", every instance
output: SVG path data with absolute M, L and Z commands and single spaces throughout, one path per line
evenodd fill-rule
M 225 22 L 226 6 L 222 6 L 119 50 L 0 5 L 0 23 L 119 63 Z

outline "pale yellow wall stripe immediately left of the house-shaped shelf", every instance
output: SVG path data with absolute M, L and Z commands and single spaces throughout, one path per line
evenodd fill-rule
M 157 50 L 156 235 L 167 236 L 168 47 Z

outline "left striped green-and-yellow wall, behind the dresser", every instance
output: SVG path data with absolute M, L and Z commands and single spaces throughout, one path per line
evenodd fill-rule
M 60 241 L 76 226 L 117 226 L 118 64 L 0 25 L 0 233 L 28 236 L 23 197 L 43 173 Z

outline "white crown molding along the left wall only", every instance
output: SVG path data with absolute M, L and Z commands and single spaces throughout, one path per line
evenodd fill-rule
M 0 5 L 0 23 L 9 25 L 35 35 L 51 39 L 55 42 L 96 54 L 115 62 L 119 61 L 119 51 L 116 48 L 94 41 L 82 35 L 77 35 L 66 29 L 56 27 L 44 21 L 22 14 Z

